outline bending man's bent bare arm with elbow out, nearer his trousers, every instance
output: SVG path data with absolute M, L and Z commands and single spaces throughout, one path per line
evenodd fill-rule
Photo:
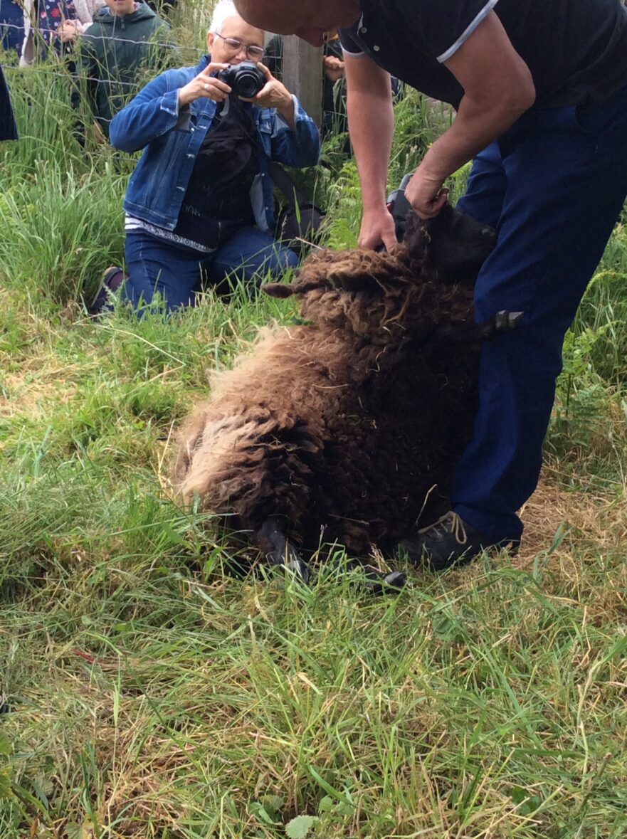
M 423 218 L 436 216 L 446 203 L 440 190 L 448 175 L 498 138 L 536 100 L 529 67 L 494 12 L 444 63 L 464 95 L 451 128 L 427 151 L 405 190 Z

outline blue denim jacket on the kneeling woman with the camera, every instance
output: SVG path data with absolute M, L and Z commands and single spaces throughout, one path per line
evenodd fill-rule
M 128 181 L 124 210 L 166 230 L 174 230 L 202 141 L 211 128 L 216 102 L 202 96 L 179 108 L 179 90 L 209 63 L 167 70 L 150 81 L 113 117 L 109 139 L 116 149 L 144 154 Z M 253 106 L 258 140 L 273 160 L 287 166 L 314 166 L 320 156 L 315 122 L 294 99 L 295 128 L 275 108 Z M 250 190 L 256 225 L 274 228 L 272 181 L 259 154 L 259 175 Z

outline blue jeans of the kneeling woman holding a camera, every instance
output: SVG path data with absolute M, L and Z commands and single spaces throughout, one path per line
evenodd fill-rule
M 196 292 L 207 285 L 219 285 L 230 277 L 257 289 L 268 276 L 279 279 L 298 264 L 293 251 L 256 227 L 243 227 L 222 248 L 208 254 L 180 248 L 141 230 L 128 232 L 124 254 L 128 279 L 123 297 L 140 310 L 159 292 L 169 312 L 195 305 Z

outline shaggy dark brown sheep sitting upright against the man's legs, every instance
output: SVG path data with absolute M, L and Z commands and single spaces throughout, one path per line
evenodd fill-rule
M 298 298 L 305 322 L 262 328 L 252 352 L 213 373 L 180 432 L 184 502 L 228 514 L 229 529 L 305 580 L 303 550 L 389 553 L 448 508 L 478 404 L 479 340 L 519 315 L 474 324 L 473 281 L 494 240 L 470 234 L 478 253 L 463 280 L 455 266 L 438 271 L 431 254 L 460 235 L 459 214 L 441 216 L 410 217 L 394 253 L 322 250 L 291 284 L 266 284 Z

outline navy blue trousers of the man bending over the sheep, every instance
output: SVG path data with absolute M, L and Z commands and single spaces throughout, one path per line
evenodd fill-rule
M 525 313 L 483 344 L 473 440 L 452 509 L 491 539 L 520 539 L 537 486 L 562 342 L 627 195 L 627 88 L 609 102 L 525 113 L 473 162 L 458 206 L 498 230 L 477 320 Z

